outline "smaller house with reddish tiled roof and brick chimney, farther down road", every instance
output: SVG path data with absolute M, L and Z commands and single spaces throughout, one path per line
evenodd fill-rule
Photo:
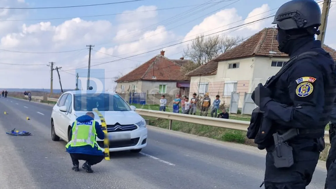
M 183 57 L 169 59 L 165 51 L 119 78 L 118 93 L 180 94 L 189 95 L 190 77 L 181 72 L 181 66 L 191 60 Z

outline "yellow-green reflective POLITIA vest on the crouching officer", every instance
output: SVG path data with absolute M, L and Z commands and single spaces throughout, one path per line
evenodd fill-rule
M 68 142 L 66 148 L 71 147 L 78 147 L 78 146 L 85 146 L 90 145 L 92 148 L 97 144 L 96 141 L 96 128 L 95 128 L 95 121 L 89 122 L 78 122 L 75 121 L 74 126 L 72 128 L 72 137 L 71 141 Z M 100 148 L 98 148 L 100 150 Z

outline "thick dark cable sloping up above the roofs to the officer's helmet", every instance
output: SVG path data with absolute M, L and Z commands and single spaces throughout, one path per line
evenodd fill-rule
M 264 17 L 264 18 L 261 18 L 261 19 L 258 19 L 258 20 L 254 20 L 254 21 L 251 21 L 251 22 L 248 22 L 248 23 L 244 23 L 244 24 L 242 24 L 242 25 L 235 26 L 235 27 L 232 27 L 232 28 L 228 28 L 228 29 L 225 29 L 225 30 L 221 30 L 221 31 L 218 31 L 218 32 L 214 32 L 214 33 L 211 33 L 211 34 L 208 34 L 208 35 L 204 35 L 204 37 L 207 37 L 207 36 L 210 36 L 210 35 L 214 35 L 214 34 L 218 34 L 218 33 L 221 33 L 221 32 L 227 31 L 227 30 L 232 30 L 232 29 L 235 29 L 235 28 L 239 28 L 239 27 L 242 27 L 242 26 L 245 26 L 245 25 L 249 25 L 249 24 L 251 24 L 251 23 L 255 23 L 255 22 L 258 22 L 258 21 L 262 21 L 262 20 L 265 20 L 265 19 L 268 19 L 268 18 L 271 18 L 271 17 L 274 17 L 274 15 L 272 15 L 272 16 L 267 16 L 267 17 Z M 131 58 L 131 57 L 135 57 L 135 56 L 138 56 L 138 55 L 147 54 L 147 53 L 150 53 L 150 52 L 154 52 L 154 51 L 162 50 L 162 49 L 164 49 L 164 48 L 168 48 L 168 47 L 172 47 L 172 46 L 175 46 L 175 45 L 183 44 L 183 43 L 190 42 L 190 41 L 193 41 L 193 40 L 194 40 L 194 39 L 187 40 L 187 41 L 182 41 L 182 42 L 179 42 L 179 43 L 175 43 L 175 44 L 172 44 L 172 45 L 169 45 L 169 46 L 165 46 L 165 47 L 161 47 L 161 48 L 158 48 L 158 49 L 154 49 L 154 50 L 151 50 L 151 51 L 147 51 L 147 52 L 143 52 L 143 53 L 135 54 L 135 55 L 128 56 L 128 57 L 121 58 L 121 59 L 117 59 L 117 60 L 112 60 L 112 61 L 108 61 L 108 62 L 103 62 L 103 63 L 99 63 L 99 64 L 94 64 L 94 65 L 91 65 L 91 66 L 97 66 L 97 65 L 102 65 L 102 64 L 107 64 L 107 63 L 111 63 L 111 62 L 116 62 L 116 61 L 124 60 L 124 59 L 126 59 L 126 58 Z M 80 67 L 80 68 L 75 68 L 75 69 L 81 69 L 81 68 L 86 68 L 86 67 Z M 74 70 L 74 69 L 68 69 L 68 70 L 66 70 L 66 71 L 69 71 L 69 70 Z

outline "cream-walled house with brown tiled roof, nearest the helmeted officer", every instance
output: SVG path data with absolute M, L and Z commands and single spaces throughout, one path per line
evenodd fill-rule
M 239 93 L 239 108 L 258 83 L 275 75 L 287 54 L 278 50 L 277 30 L 265 28 L 236 47 L 224 52 L 210 62 L 186 74 L 191 77 L 190 92 L 208 92 L 212 99 L 218 94 L 226 104 L 231 102 L 232 92 Z M 336 60 L 336 51 L 327 45 L 323 48 Z

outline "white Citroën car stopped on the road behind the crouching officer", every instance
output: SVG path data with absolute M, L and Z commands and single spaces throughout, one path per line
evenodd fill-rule
M 147 145 L 146 122 L 134 111 L 134 106 L 116 93 L 95 94 L 90 90 L 67 91 L 59 97 L 51 113 L 51 139 L 58 141 L 61 138 L 69 142 L 72 123 L 93 108 L 104 116 L 108 134 L 112 135 L 110 152 L 130 150 L 138 153 Z M 93 113 L 95 121 L 101 124 L 98 115 Z M 103 140 L 96 140 L 103 150 Z

